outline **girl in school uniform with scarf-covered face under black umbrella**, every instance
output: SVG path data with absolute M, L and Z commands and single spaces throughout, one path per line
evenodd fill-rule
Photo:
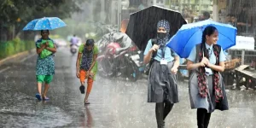
M 156 121 L 158 128 L 162 128 L 165 126 L 166 116 L 171 112 L 174 103 L 178 102 L 176 73 L 179 56 L 166 47 L 171 38 L 169 22 L 160 20 L 156 31 L 157 44 L 152 44 L 152 39 L 148 41 L 144 51 L 144 63 L 147 64 L 151 57 L 154 58 L 148 74 L 148 102 L 156 103 Z

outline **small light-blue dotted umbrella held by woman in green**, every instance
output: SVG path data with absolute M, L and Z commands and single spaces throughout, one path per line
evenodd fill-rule
M 62 21 L 58 17 L 44 17 L 44 18 L 32 20 L 23 28 L 23 31 L 53 30 L 55 28 L 60 28 L 63 26 L 67 26 L 67 25 L 64 23 L 64 21 Z

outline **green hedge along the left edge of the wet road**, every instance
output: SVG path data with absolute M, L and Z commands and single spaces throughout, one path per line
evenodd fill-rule
M 33 41 L 22 41 L 20 38 L 15 38 L 8 42 L 0 42 L 0 60 L 9 55 L 15 55 L 33 48 L 35 48 Z

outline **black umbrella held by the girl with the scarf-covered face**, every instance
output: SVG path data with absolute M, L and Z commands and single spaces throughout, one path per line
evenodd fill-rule
M 144 50 L 148 44 L 148 40 L 150 38 L 156 38 L 156 26 L 159 20 L 169 21 L 171 36 L 183 24 L 187 23 L 179 12 L 154 5 L 130 15 L 126 34 L 137 45 L 138 49 Z

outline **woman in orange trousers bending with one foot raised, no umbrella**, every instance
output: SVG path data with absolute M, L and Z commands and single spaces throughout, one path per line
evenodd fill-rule
M 90 104 L 88 97 L 92 88 L 93 80 L 96 79 L 98 48 L 93 39 L 88 39 L 85 44 L 80 45 L 77 59 L 77 77 L 80 79 L 80 91 L 84 94 L 84 80 L 87 79 L 87 90 L 84 98 L 84 104 Z

